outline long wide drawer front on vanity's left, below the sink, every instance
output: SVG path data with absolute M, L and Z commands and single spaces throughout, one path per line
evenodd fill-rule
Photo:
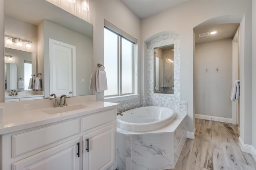
M 80 119 L 12 135 L 12 157 L 80 133 Z

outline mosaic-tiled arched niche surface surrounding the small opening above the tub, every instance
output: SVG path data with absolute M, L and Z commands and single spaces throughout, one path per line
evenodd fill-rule
M 174 94 L 158 94 L 154 93 L 154 48 L 163 47 L 174 44 Z M 148 59 L 148 93 L 147 105 L 163 106 L 180 110 L 180 35 L 166 34 L 154 38 L 147 44 L 147 59 Z

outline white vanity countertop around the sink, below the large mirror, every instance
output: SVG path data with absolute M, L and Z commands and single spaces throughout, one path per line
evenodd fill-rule
M 47 100 L 47 99 L 42 99 L 38 101 L 43 101 L 43 100 Z M 108 103 L 108 102 L 102 102 L 102 101 L 85 101 L 81 103 L 72 103 L 68 106 L 71 106 L 71 105 L 86 105 L 86 108 L 50 115 L 48 113 L 45 113 L 44 110 L 50 109 L 50 108 L 56 109 L 53 107 L 54 105 L 52 105 L 52 107 L 44 107 L 44 108 L 41 107 L 40 109 L 14 111 L 12 113 L 10 111 L 9 113 L 8 112 L 5 113 L 4 112 L 5 108 L 3 108 L 3 105 L 2 106 L 0 105 L 3 108 L 3 109 L 2 108 L 0 109 L 2 109 L 2 111 L 4 112 L 3 121 L 1 121 L 2 123 L 0 123 L 0 135 L 10 133 L 10 132 L 15 132 L 18 130 L 24 130 L 26 128 L 33 128 L 41 125 L 46 125 L 48 123 L 54 123 L 54 122 L 63 121 L 66 119 L 72 119 L 75 117 L 80 117 L 80 116 L 84 116 L 84 115 L 88 115 L 91 113 L 100 112 L 108 109 L 114 109 L 118 107 L 120 104 Z

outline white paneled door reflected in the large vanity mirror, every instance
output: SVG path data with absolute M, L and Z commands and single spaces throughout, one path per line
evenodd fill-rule
M 76 95 L 76 47 L 50 39 L 50 94 Z

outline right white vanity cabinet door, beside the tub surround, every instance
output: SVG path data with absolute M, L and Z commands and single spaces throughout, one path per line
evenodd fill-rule
M 109 166 L 114 164 L 114 139 L 114 124 L 85 134 L 83 136 L 83 169 L 106 170 Z

